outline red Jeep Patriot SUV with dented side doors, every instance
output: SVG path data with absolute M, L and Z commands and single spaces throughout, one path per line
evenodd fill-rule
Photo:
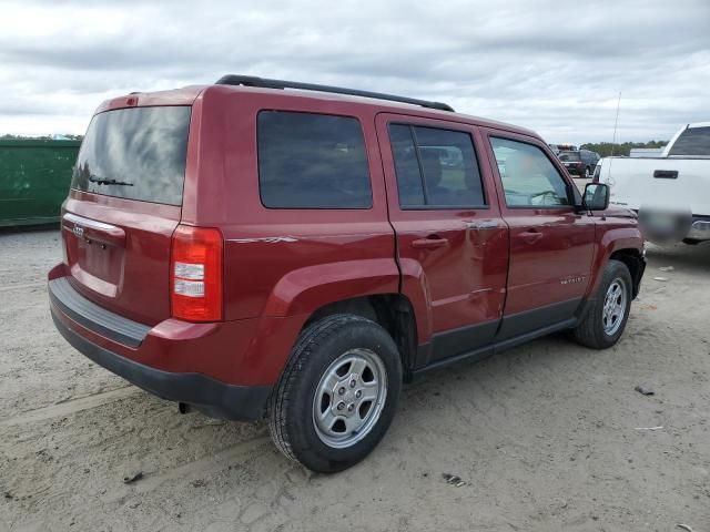
M 443 103 L 240 75 L 133 93 L 82 143 L 51 313 L 104 368 L 338 471 L 417 374 L 564 329 L 615 345 L 646 262 L 607 207 L 531 131 Z

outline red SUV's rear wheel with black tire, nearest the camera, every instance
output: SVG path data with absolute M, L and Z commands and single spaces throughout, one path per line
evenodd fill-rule
M 272 393 L 272 439 L 313 471 L 342 471 L 385 436 L 400 388 L 399 352 L 387 331 L 359 316 L 328 316 L 302 332 Z

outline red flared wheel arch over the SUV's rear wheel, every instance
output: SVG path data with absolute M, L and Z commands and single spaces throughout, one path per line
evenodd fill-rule
M 393 258 L 318 264 L 283 276 L 266 299 L 264 316 L 312 314 L 343 299 L 399 291 L 399 270 Z

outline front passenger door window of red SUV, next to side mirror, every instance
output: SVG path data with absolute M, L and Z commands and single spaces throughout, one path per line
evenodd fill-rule
M 491 137 L 490 144 L 509 207 L 570 204 L 565 180 L 542 150 L 509 139 Z

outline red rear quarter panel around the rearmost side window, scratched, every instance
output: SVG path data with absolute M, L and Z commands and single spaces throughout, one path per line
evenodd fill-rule
M 190 185 L 194 192 L 186 185 L 193 206 L 184 206 L 183 223 L 219 227 L 223 233 L 227 320 L 262 315 L 305 320 L 328 303 L 398 291 L 373 111 L 344 101 L 315 108 L 361 121 L 372 208 L 266 208 L 258 190 L 257 114 L 274 109 L 315 112 L 314 105 L 305 99 L 235 93 L 224 86 L 207 89 L 202 100 L 200 163 Z

